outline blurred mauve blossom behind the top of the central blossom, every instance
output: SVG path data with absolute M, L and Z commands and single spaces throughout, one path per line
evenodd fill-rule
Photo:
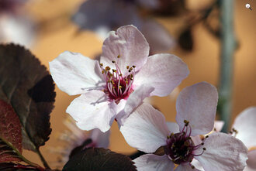
M 168 30 L 150 15 L 141 14 L 140 8 L 145 2 L 154 2 L 145 8 L 157 8 L 157 1 L 88 0 L 80 5 L 72 21 L 80 30 L 92 30 L 103 39 L 109 31 L 132 24 L 146 37 L 151 54 L 170 50 L 175 46 L 175 41 Z

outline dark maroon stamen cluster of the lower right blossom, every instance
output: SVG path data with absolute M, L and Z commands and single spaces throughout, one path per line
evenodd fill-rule
M 184 121 L 185 125 L 182 128 L 182 132 L 171 133 L 167 138 L 167 147 L 165 149 L 165 153 L 175 164 L 186 164 L 189 163 L 189 166 L 192 169 L 195 166 L 192 166 L 190 162 L 194 159 L 194 156 L 201 156 L 206 148 L 202 148 L 202 152 L 200 154 L 194 154 L 195 149 L 199 149 L 202 145 L 204 145 L 206 138 L 202 140 L 199 145 L 195 145 L 192 141 L 191 135 L 191 126 L 189 125 L 189 121 Z

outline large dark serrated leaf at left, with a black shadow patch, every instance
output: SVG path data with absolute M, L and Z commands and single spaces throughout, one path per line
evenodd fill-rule
M 54 81 L 22 46 L 0 45 L 0 99 L 12 104 L 22 125 L 22 146 L 36 151 L 49 139 Z

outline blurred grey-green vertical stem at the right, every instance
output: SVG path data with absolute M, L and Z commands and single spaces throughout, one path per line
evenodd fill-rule
M 234 38 L 234 0 L 220 0 L 221 52 L 219 112 L 220 120 L 225 121 L 223 132 L 228 132 L 232 113 Z

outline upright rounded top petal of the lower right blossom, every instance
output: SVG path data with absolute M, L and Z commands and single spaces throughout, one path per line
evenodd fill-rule
M 180 130 L 184 120 L 189 121 L 192 136 L 205 135 L 213 130 L 218 92 L 216 87 L 206 82 L 185 87 L 176 102 L 176 121 Z

